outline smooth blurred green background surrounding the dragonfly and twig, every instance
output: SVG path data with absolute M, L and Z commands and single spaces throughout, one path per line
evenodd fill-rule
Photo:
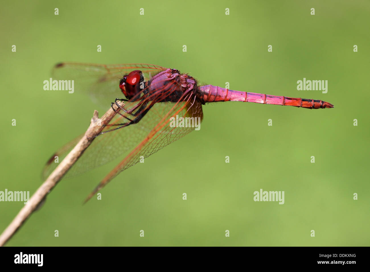
M 44 91 L 60 61 L 152 63 L 335 105 L 205 105 L 201 130 L 122 172 L 101 201 L 81 205 L 114 162 L 62 180 L 7 245 L 369 246 L 369 13 L 367 0 L 2 2 L 0 191 L 33 194 L 50 155 L 109 107 Z M 297 91 L 304 77 L 328 92 Z M 285 204 L 253 201 L 260 189 Z M 1 231 L 23 205 L 0 203 Z

